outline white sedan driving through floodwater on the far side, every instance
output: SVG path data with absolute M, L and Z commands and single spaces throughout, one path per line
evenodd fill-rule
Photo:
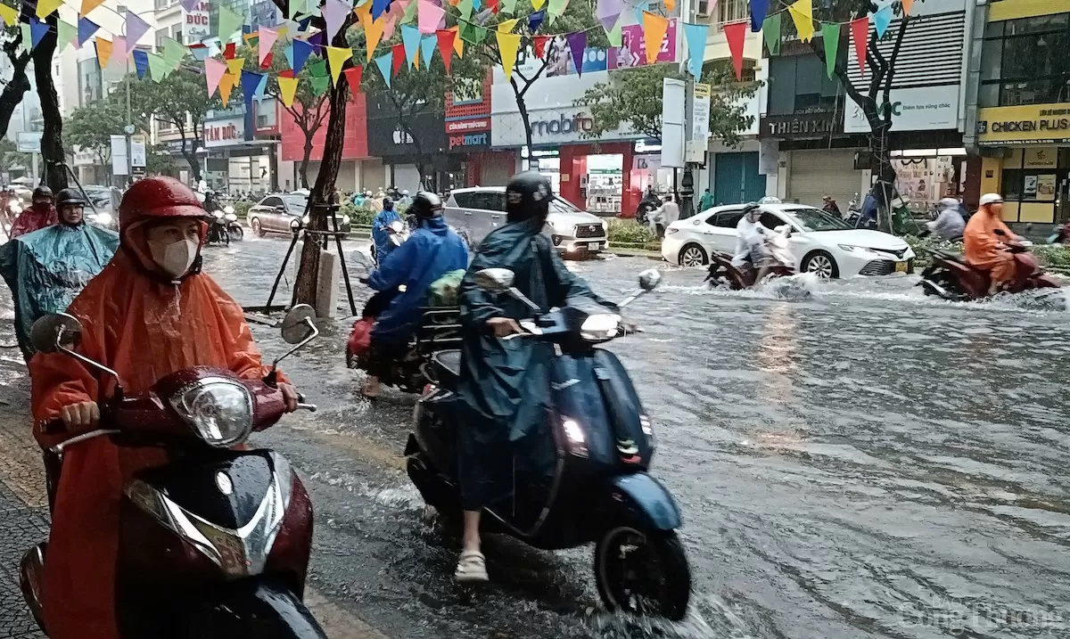
M 744 204 L 716 206 L 666 230 L 661 255 L 671 264 L 701 266 L 709 254 L 735 253 L 736 224 Z M 788 224 L 798 272 L 823 278 L 890 275 L 914 270 L 914 251 L 905 241 L 881 231 L 855 229 L 839 216 L 802 204 L 760 204 L 766 229 Z

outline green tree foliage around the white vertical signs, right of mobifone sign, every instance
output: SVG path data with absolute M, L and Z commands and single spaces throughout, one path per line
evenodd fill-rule
M 746 115 L 744 98 L 753 95 L 759 83 L 736 82 L 731 74 L 723 63 L 707 64 L 702 81 L 713 87 L 709 133 L 715 139 L 734 146 L 739 141 L 739 133 L 754 122 L 753 115 Z M 636 131 L 661 139 L 661 84 L 666 78 L 683 80 L 685 75 L 673 64 L 611 72 L 608 82 L 587 89 L 575 103 L 587 107 L 594 121 L 594 127 L 583 137 L 598 139 L 630 122 Z

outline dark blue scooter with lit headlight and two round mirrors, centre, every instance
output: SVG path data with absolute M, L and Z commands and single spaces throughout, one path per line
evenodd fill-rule
M 524 333 L 508 339 L 551 342 L 552 409 L 545 432 L 524 457 L 514 455 L 513 493 L 484 511 L 489 530 L 546 550 L 595 547 L 598 593 L 610 610 L 679 620 L 687 611 L 691 577 L 676 536 L 681 514 L 669 490 L 648 474 L 655 451 L 649 417 L 621 361 L 598 348 L 625 333 L 621 316 L 601 307 L 575 306 L 542 312 L 513 286 L 514 272 L 488 268 L 475 275 L 482 289 L 510 295 L 533 317 Z M 640 276 L 640 291 L 660 281 L 655 269 Z M 409 478 L 424 500 L 447 517 L 459 516 L 457 428 L 463 422 L 455 394 L 460 352 L 431 357 L 430 383 L 414 411 L 404 449 Z M 528 459 L 537 457 L 537 463 Z

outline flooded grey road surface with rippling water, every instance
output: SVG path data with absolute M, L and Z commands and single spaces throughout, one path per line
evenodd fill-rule
M 262 305 L 285 250 L 210 248 L 205 269 Z M 654 264 L 574 268 L 623 297 Z M 360 398 L 345 321 L 284 365 L 321 410 L 255 440 L 311 493 L 310 585 L 404 638 L 1070 636 L 1066 312 L 936 302 L 914 277 L 808 284 L 808 299 L 710 292 L 702 271 L 661 266 L 661 289 L 628 309 L 646 332 L 610 348 L 655 421 L 653 474 L 684 513 L 687 620 L 601 612 L 591 548 L 488 537 L 493 583 L 455 587 L 456 541 L 401 470 L 414 398 Z M 281 352 L 273 329 L 254 332 Z M 20 386 L 10 370 L 4 396 Z

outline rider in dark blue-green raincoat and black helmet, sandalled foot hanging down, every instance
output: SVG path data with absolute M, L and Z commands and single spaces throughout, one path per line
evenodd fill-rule
M 501 339 L 520 332 L 517 321 L 531 317 L 532 311 L 507 294 L 483 291 L 474 274 L 485 268 L 513 270 L 514 285 L 544 311 L 578 298 L 614 312 L 617 308 L 565 268 L 542 234 L 552 199 L 544 175 L 536 171 L 515 175 L 505 190 L 508 223 L 484 238 L 461 282 L 464 337 L 457 391 L 463 411 L 458 417 L 458 462 L 464 536 L 455 573 L 461 582 L 487 580 L 479 551 L 479 511 L 511 489 L 513 451 L 522 448 L 528 455 L 521 462 L 538 465 L 535 457 L 544 448 L 538 438 L 545 435 L 554 358 L 548 342 Z

